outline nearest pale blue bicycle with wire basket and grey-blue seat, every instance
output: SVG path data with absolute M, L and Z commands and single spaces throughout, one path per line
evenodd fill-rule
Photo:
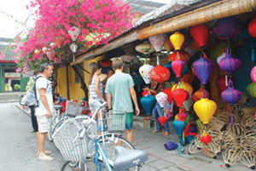
M 61 171 L 102 170 L 102 168 L 108 171 L 113 169 L 124 170 L 124 169 L 130 169 L 130 168 L 136 168 L 137 170 L 139 170 L 142 163 L 148 160 L 148 155 L 144 151 L 128 150 L 128 149 L 125 149 L 124 147 L 116 146 L 116 145 L 115 145 L 116 157 L 111 159 L 109 158 L 109 152 L 107 152 L 108 146 L 106 145 L 108 145 L 108 140 L 111 139 L 110 137 L 115 137 L 116 134 L 107 134 L 103 127 L 104 120 L 102 117 L 102 109 L 106 105 L 107 103 L 105 102 L 99 108 L 97 108 L 96 111 L 93 112 L 91 118 L 84 117 L 83 122 L 76 123 L 75 122 L 76 118 L 67 120 L 56 131 L 56 133 L 54 134 L 54 141 L 56 142 L 56 145 L 59 147 L 64 159 L 67 160 L 67 162 L 65 162 L 62 165 Z M 94 117 L 96 117 L 97 111 L 101 112 L 102 136 L 98 136 L 96 131 L 97 129 L 96 121 L 93 119 Z M 70 131 L 74 128 L 70 126 L 72 125 L 70 123 L 75 123 L 73 125 L 76 125 L 75 128 L 77 130 L 74 132 L 76 132 L 77 134 L 73 139 L 74 144 L 72 143 L 69 144 L 71 148 L 66 149 L 68 146 L 67 138 L 73 137 L 73 135 L 71 135 L 71 137 L 68 137 L 68 136 L 66 138 L 63 137 L 64 133 L 73 132 L 73 131 Z M 106 139 L 105 137 L 109 139 Z M 64 144 L 60 143 L 61 139 L 65 140 L 65 142 L 63 142 Z M 116 139 L 116 141 L 118 140 L 124 140 L 123 142 L 125 143 L 126 147 L 127 145 L 131 145 L 128 141 L 126 141 L 123 138 Z M 102 143 L 102 145 L 100 145 L 100 143 Z M 92 148 L 91 148 L 92 145 L 95 146 L 95 151 L 92 151 Z M 133 146 L 131 145 L 130 148 L 132 149 Z

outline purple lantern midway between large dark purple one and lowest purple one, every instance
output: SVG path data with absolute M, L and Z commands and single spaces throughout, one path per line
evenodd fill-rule
M 218 66 L 222 71 L 232 74 L 238 66 L 238 62 L 228 53 L 229 49 L 226 48 L 226 56 L 219 60 Z

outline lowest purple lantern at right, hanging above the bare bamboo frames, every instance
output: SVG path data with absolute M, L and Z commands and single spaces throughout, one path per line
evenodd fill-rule
M 229 105 L 235 105 L 239 100 L 241 100 L 241 92 L 234 88 L 233 82 L 230 80 L 229 88 L 225 89 L 221 93 L 221 97 L 224 102 Z

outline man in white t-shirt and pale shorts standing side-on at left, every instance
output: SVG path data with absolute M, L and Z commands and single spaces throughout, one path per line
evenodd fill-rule
M 52 66 L 43 64 L 41 66 L 41 76 L 36 81 L 38 107 L 35 114 L 38 120 L 38 160 L 40 161 L 53 160 L 53 157 L 48 156 L 51 151 L 44 151 L 45 136 L 49 132 L 50 117 L 52 117 L 54 111 L 52 88 L 48 80 L 52 72 Z

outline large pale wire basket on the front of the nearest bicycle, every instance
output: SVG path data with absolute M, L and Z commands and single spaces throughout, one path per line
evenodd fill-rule
M 83 138 L 79 138 L 79 133 L 84 125 L 74 118 L 68 119 L 53 134 L 54 143 L 66 161 L 84 161 L 90 154 L 96 134 L 96 122 L 91 120 L 85 118 L 88 124 Z

